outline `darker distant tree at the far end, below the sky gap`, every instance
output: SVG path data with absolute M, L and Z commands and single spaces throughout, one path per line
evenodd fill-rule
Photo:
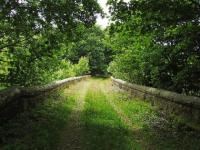
M 80 57 L 89 59 L 89 67 L 92 75 L 107 74 L 108 64 L 112 60 L 113 50 L 106 39 L 106 32 L 94 26 L 79 31 L 78 41 L 74 41 L 67 49 L 67 59 L 76 63 Z

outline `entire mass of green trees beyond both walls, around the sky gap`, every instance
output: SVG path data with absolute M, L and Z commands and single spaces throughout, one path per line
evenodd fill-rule
M 107 3 L 111 24 L 102 30 L 95 25 L 97 15 L 104 16 L 96 0 L 1 1 L 1 86 L 109 72 L 129 82 L 199 96 L 200 3 Z

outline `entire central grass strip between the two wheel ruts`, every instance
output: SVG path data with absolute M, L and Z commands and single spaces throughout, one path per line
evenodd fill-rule
M 94 87 L 86 96 L 84 117 L 86 150 L 140 149 L 131 131 L 108 103 L 102 91 Z M 134 148 L 133 148 L 134 147 Z

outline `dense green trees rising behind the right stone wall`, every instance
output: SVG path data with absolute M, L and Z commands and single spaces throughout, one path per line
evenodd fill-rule
M 114 76 L 179 93 L 199 95 L 200 4 L 193 0 L 110 0 L 118 55 Z M 190 13 L 188 13 L 190 12 Z

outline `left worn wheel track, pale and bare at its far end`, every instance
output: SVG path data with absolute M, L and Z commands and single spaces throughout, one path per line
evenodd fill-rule
M 60 144 L 58 146 L 58 150 L 76 150 L 82 149 L 81 143 L 81 132 L 82 132 L 82 125 L 81 125 L 81 116 L 82 111 L 84 108 L 84 100 L 85 95 L 88 89 L 90 82 L 83 81 L 80 84 L 73 86 L 71 89 L 72 92 L 68 92 L 67 89 L 65 92 L 67 94 L 74 95 L 76 101 L 75 106 L 72 109 L 72 112 L 69 116 L 68 124 L 63 131 L 61 131 L 61 139 Z M 81 89 L 80 89 L 81 87 Z M 76 93 L 75 93 L 76 92 Z

